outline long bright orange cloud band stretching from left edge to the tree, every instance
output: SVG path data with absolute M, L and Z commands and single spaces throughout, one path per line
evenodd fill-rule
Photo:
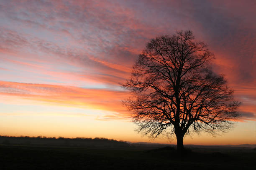
M 0 81 L 0 95 L 39 101 L 47 105 L 84 107 L 111 112 L 111 115 L 106 115 L 105 118 L 129 117 L 129 112 L 121 104 L 121 100 L 128 97 L 125 91 Z

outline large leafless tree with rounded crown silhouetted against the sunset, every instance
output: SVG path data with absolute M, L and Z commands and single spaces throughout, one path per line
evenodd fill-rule
M 232 128 L 240 102 L 224 75 L 211 71 L 214 55 L 191 31 L 152 39 L 123 85 L 132 96 L 123 101 L 133 111 L 138 132 L 152 138 L 176 135 L 177 150 L 191 132 L 218 134 Z

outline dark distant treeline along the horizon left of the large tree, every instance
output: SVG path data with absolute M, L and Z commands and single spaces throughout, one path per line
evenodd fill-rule
M 0 136 L 3 145 L 49 145 L 49 146 L 74 146 L 74 147 L 128 147 L 128 143 L 107 138 L 49 138 L 29 136 Z

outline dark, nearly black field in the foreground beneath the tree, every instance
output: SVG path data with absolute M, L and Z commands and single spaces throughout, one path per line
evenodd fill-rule
M 172 169 L 256 170 L 253 149 L 191 148 L 183 159 L 176 150 L 38 147 L 0 145 L 1 170 Z

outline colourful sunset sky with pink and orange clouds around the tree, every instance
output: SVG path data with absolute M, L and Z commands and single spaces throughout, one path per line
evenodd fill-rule
M 255 0 L 0 0 L 0 135 L 151 140 L 135 132 L 120 87 L 147 42 L 178 30 L 215 54 L 241 117 L 184 144 L 256 144 Z

